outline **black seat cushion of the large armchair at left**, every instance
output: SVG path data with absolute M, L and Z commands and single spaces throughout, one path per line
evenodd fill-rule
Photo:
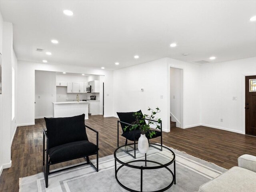
M 76 141 L 62 144 L 49 149 L 50 161 L 52 163 L 72 160 L 78 157 L 86 157 L 98 151 L 97 146 L 89 141 Z

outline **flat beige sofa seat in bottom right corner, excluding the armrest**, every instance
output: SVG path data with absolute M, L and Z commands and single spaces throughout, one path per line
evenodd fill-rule
M 256 173 L 241 167 L 232 167 L 199 188 L 199 192 L 242 191 L 256 192 Z

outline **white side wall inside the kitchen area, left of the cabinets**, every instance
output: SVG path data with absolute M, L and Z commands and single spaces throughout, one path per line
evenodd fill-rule
M 56 102 L 56 72 L 35 71 L 35 102 L 35 118 L 52 117 L 52 102 Z

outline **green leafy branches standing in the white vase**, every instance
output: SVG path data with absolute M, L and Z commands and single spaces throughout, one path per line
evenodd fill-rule
M 162 120 L 160 118 L 155 117 L 155 115 L 160 112 L 160 109 L 158 107 L 156 108 L 156 111 L 154 111 L 151 108 L 148 108 L 148 111 L 151 112 L 150 115 L 148 114 L 142 115 L 141 112 L 134 112 L 133 116 L 136 119 L 135 122 L 133 122 L 131 126 L 125 126 L 124 131 L 126 131 L 129 128 L 131 132 L 132 130 L 135 130 L 138 128 L 141 134 L 148 133 L 148 136 L 152 138 L 152 136 L 155 135 L 156 132 L 154 130 L 151 130 L 150 126 L 155 125 L 156 129 L 161 129 L 159 124 L 162 122 Z

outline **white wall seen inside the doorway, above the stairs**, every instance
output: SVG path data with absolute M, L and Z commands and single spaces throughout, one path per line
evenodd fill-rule
M 182 69 L 170 68 L 170 116 L 176 127 L 181 126 L 181 73 Z

